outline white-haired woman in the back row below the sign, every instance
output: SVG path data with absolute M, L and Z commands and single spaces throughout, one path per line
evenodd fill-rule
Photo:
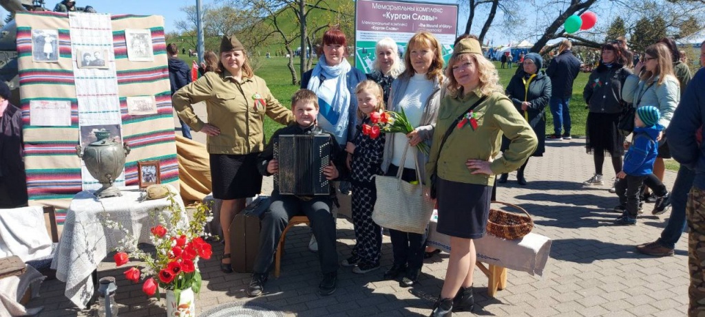
M 374 80 L 384 91 L 384 101 L 389 98 L 392 82 L 404 71 L 404 64 L 399 58 L 399 49 L 393 39 L 385 37 L 374 46 L 374 65 L 367 79 Z

